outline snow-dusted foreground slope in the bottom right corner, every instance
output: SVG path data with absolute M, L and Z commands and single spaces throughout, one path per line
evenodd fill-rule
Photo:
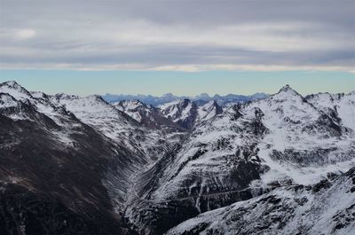
M 355 231 L 355 168 L 333 182 L 283 186 L 180 223 L 166 234 L 342 234 Z

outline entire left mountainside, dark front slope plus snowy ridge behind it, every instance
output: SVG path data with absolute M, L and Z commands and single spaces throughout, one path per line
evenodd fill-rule
M 142 127 L 99 96 L 4 82 L 0 98 L 0 233 L 135 234 L 122 220 L 130 176 L 181 133 Z

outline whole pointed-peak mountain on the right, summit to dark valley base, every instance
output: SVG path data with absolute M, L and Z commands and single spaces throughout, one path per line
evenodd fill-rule
M 127 215 L 138 230 L 165 232 L 201 212 L 345 172 L 355 166 L 354 146 L 353 129 L 285 86 L 197 125 L 139 176 Z

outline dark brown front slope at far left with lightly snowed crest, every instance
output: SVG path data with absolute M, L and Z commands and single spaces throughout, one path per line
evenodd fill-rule
M 134 234 L 103 181 L 123 180 L 135 156 L 16 82 L 0 97 L 0 233 Z

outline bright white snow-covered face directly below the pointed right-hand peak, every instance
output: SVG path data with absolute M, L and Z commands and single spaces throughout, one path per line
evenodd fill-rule
M 312 184 L 327 173 L 355 164 L 355 136 L 338 121 L 286 86 L 277 94 L 245 106 L 264 113 L 267 135 L 257 145 L 259 157 L 271 169 L 264 183 L 288 178 Z

